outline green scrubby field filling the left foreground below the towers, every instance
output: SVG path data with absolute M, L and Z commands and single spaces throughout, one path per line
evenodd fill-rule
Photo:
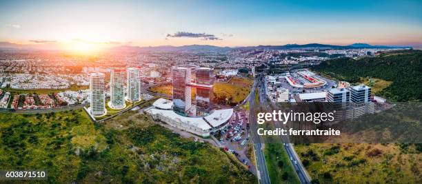
M 257 182 L 224 152 L 134 111 L 101 125 L 83 110 L 0 114 L 0 122 L 1 169 L 48 170 L 49 183 Z

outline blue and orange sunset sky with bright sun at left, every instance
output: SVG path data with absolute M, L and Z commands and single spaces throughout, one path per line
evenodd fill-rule
M 422 1 L 0 1 L 0 42 L 46 48 L 422 45 Z

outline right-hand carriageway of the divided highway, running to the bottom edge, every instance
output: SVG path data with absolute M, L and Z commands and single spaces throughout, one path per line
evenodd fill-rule
M 276 108 L 274 103 L 270 102 L 270 100 L 267 98 L 267 87 L 265 85 L 265 79 L 262 79 L 262 81 L 259 81 L 260 85 L 262 88 L 259 88 L 259 99 L 260 99 L 260 103 L 261 103 L 261 107 L 265 107 L 267 108 L 267 112 L 272 112 L 273 110 L 279 110 L 279 108 Z M 279 121 L 274 121 L 274 125 L 276 125 L 276 127 L 282 127 L 282 128 L 286 128 L 285 125 L 283 125 L 282 123 L 280 124 Z M 299 177 L 299 181 L 301 181 L 301 183 L 310 183 L 311 178 L 310 175 L 308 174 L 308 172 L 306 171 L 305 167 L 303 167 L 301 159 L 299 158 L 299 155 L 296 153 L 296 151 L 294 151 L 294 147 L 293 144 L 290 143 L 289 141 L 289 137 L 288 136 L 281 136 L 281 139 L 283 140 L 284 144 L 284 149 L 285 152 L 287 152 L 290 162 L 292 163 L 294 170 L 297 174 L 297 176 Z

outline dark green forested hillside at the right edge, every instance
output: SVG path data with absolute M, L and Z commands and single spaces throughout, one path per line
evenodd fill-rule
M 376 94 L 392 101 L 421 101 L 421 68 L 422 50 L 399 50 L 359 60 L 331 59 L 314 66 L 313 70 L 351 83 L 359 83 L 361 77 L 391 81 L 391 85 Z

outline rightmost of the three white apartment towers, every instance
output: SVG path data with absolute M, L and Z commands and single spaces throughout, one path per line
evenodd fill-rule
M 141 100 L 140 90 L 141 90 L 141 71 L 139 68 L 128 68 L 126 70 L 128 78 L 128 101 L 137 102 Z

